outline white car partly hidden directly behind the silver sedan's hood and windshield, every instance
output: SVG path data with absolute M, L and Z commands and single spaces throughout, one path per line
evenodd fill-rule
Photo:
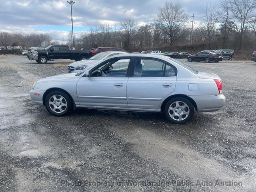
M 119 54 L 128 54 L 127 52 L 121 52 L 121 51 L 106 51 L 106 52 L 101 52 L 99 54 L 96 54 L 92 56 L 90 59 L 87 60 L 82 60 L 82 61 L 77 61 L 74 63 L 71 63 L 68 65 L 68 72 L 80 72 L 80 70 L 84 70 L 89 64 L 96 63 L 99 61 L 106 60 L 114 55 L 119 55 Z

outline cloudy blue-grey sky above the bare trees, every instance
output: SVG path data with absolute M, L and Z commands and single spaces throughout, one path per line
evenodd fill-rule
M 166 0 L 74 0 L 74 34 L 100 24 L 120 26 L 133 17 L 139 25 L 153 22 Z M 206 0 L 172 0 L 200 22 Z M 189 21 L 188 21 L 189 22 Z M 70 4 L 66 0 L 0 0 L 0 31 L 49 34 L 62 41 L 72 31 Z

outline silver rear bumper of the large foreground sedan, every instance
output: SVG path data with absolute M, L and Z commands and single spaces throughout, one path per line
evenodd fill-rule
M 196 95 L 189 96 L 197 105 L 197 112 L 217 111 L 224 107 L 226 97 L 223 94 L 219 95 Z

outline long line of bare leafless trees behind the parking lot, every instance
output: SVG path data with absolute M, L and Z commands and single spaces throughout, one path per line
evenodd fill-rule
M 231 48 L 254 50 L 256 46 L 256 0 L 222 0 L 205 6 L 200 23 L 194 24 L 180 4 L 166 1 L 154 22 L 139 26 L 134 18 L 124 18 L 120 26 L 101 24 L 88 32 L 75 34 L 74 46 L 111 46 L 128 52 L 141 50 L 191 50 Z M 192 38 L 192 43 L 191 43 Z M 3 46 L 41 46 L 53 44 L 46 34 L 24 35 L 0 32 Z M 72 45 L 71 32 L 66 44 Z M 174 51 L 174 50 L 173 50 Z

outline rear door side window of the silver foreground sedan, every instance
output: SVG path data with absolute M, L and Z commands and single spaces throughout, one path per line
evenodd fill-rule
M 134 77 L 170 77 L 176 75 L 176 69 L 165 62 L 153 59 L 137 59 Z

